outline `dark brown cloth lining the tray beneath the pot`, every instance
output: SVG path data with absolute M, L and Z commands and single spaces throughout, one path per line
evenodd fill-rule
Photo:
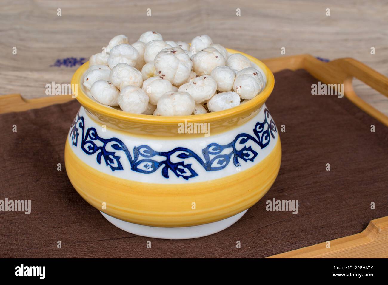
M 345 97 L 312 95 L 317 79 L 306 71 L 281 71 L 275 82 L 267 107 L 282 142 L 279 176 L 236 224 L 191 240 L 127 233 L 78 195 L 64 168 L 78 102 L 1 115 L 0 200 L 31 200 L 31 214 L 0 212 L 0 257 L 266 257 L 359 233 L 388 216 L 388 128 Z M 298 200 L 298 214 L 266 211 L 273 198 Z

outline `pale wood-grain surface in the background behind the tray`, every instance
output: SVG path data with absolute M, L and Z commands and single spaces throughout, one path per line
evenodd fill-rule
M 353 57 L 387 76 L 387 8 L 384 0 L 373 5 L 352 0 L 3 0 L 0 95 L 49 96 L 45 85 L 69 83 L 78 67 L 52 66 L 57 59 L 88 59 L 114 35 L 125 34 L 132 43 L 148 30 L 160 32 L 165 40 L 187 42 L 208 34 L 214 42 L 258 59 L 284 56 L 282 47 L 286 56 Z M 361 81 L 353 84 L 361 98 L 388 114 L 386 98 Z

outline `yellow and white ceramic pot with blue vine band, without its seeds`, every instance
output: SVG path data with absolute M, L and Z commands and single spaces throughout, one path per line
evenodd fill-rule
M 88 62 L 81 66 L 71 83 L 82 106 L 65 147 L 77 192 L 115 226 L 146 237 L 203 237 L 240 219 L 269 190 L 281 162 L 279 131 L 264 104 L 274 76 L 244 55 L 265 78 L 262 92 L 235 108 L 192 116 L 102 105 L 83 89 Z

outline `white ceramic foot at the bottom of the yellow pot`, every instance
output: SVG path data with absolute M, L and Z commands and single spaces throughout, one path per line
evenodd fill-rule
M 112 216 L 109 216 L 101 211 L 100 212 L 102 216 L 104 216 L 109 222 L 121 230 L 128 231 L 128 233 L 141 235 L 143 237 L 165 238 L 168 240 L 184 240 L 188 238 L 205 237 L 206 235 L 212 235 L 213 233 L 218 233 L 218 231 L 225 230 L 229 226 L 236 223 L 242 216 L 244 216 L 246 211 L 248 210 L 242 211 L 241 213 L 221 221 L 199 226 L 185 226 L 180 228 L 160 228 L 156 226 L 137 225 L 113 218 Z

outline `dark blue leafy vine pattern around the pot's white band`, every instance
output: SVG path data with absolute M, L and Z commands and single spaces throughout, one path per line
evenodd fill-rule
M 78 132 L 79 130 L 81 130 L 81 133 Z M 78 147 L 78 136 L 81 135 L 80 147 L 83 152 L 88 155 L 97 154 L 97 163 L 101 164 L 101 160 L 104 159 L 106 166 L 109 166 L 112 171 L 124 170 L 120 162 L 121 156 L 117 154 L 117 152 L 123 151 L 132 171 L 149 174 L 161 168 L 161 174 L 165 178 L 169 178 L 169 171 L 171 171 L 177 177 L 189 180 L 198 176 L 198 173 L 192 168 L 191 163 L 185 163 L 185 159 L 194 158 L 206 171 L 224 169 L 230 160 L 235 166 L 240 166 L 240 160 L 245 162 L 254 161 L 258 153 L 251 146 L 237 149 L 237 145 L 244 145 L 251 140 L 259 145 L 261 149 L 264 149 L 270 143 L 271 137 L 275 138 L 274 133 L 276 132 L 275 123 L 268 109 L 265 109 L 264 121 L 257 122 L 253 129 L 255 136 L 241 133 L 226 145 L 210 143 L 202 150 L 202 156 L 185 147 L 177 147 L 168 152 L 158 152 L 148 145 L 133 147 L 132 155 L 120 139 L 102 138 L 97 134 L 95 128 L 88 128 L 85 131 L 85 120 L 78 113 L 71 126 L 70 138 L 73 146 Z M 113 151 L 109 151 L 107 148 L 113 149 Z M 162 160 L 158 161 L 156 157 L 162 157 Z M 177 158 L 180 161 L 172 162 L 171 157 L 175 158 L 174 161 Z

